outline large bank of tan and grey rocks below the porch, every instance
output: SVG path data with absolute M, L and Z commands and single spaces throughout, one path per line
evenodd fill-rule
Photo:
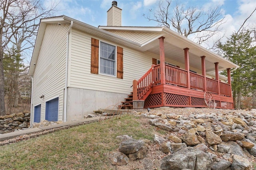
M 244 112 L 209 108 L 169 108 L 168 110 L 152 109 L 149 113 L 137 114 L 142 118 L 148 118 L 148 123 L 154 126 L 155 130 L 166 131 L 164 135 L 154 136 L 154 144 L 159 147 L 156 149 L 164 153 L 158 167 L 162 170 L 253 170 L 255 168 L 255 164 L 251 163 L 256 161 L 256 110 Z M 122 146 L 135 141 L 131 138 L 122 140 Z M 133 147 L 139 146 L 138 144 Z M 129 159 L 128 151 L 123 153 L 121 150 L 122 148 L 119 147 L 121 153 L 113 152 L 110 155 L 112 164 L 125 165 L 135 160 Z M 143 158 L 142 162 L 144 162 L 148 156 L 138 158 Z M 145 170 L 154 168 L 153 165 L 146 168 L 146 165 Z

